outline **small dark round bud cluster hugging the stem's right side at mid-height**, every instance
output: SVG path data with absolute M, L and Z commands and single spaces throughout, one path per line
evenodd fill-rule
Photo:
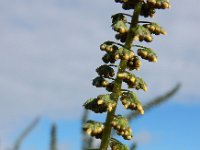
M 140 66 L 142 65 L 142 62 L 140 61 L 138 56 L 134 56 L 132 60 L 127 61 L 127 68 L 129 70 L 140 70 Z

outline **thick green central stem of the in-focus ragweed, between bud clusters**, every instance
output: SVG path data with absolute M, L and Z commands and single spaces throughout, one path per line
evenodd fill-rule
M 124 45 L 124 47 L 127 48 L 127 49 L 131 49 L 131 46 L 132 46 L 132 43 L 133 43 L 134 35 L 132 33 L 132 29 L 137 26 L 139 14 L 140 14 L 140 11 L 141 11 L 141 6 L 142 6 L 142 2 L 138 2 L 136 4 L 134 12 L 133 12 L 131 25 L 130 25 L 129 32 L 128 32 L 128 35 L 127 35 L 127 39 L 126 39 L 126 42 L 125 42 L 125 45 Z M 125 69 L 127 67 L 126 63 L 127 63 L 126 60 L 120 61 L 118 73 L 125 71 Z M 113 92 L 111 94 L 111 98 L 113 100 L 115 100 L 116 102 L 118 102 L 118 99 L 119 99 L 119 96 L 120 96 L 120 93 L 121 93 L 121 86 L 122 86 L 122 79 L 119 79 L 118 77 L 116 77 L 114 89 L 113 89 Z M 109 140 L 110 140 L 111 131 L 112 131 L 111 122 L 112 122 L 113 117 L 115 115 L 116 108 L 117 108 L 117 106 L 111 112 L 107 113 L 106 122 L 105 122 L 105 129 L 104 129 L 102 140 L 101 140 L 100 150 L 107 150 L 108 149 Z

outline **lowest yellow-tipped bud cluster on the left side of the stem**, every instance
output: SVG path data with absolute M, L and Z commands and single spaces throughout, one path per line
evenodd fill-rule
M 104 124 L 101 122 L 88 120 L 83 125 L 83 131 L 85 131 L 88 135 L 91 135 L 97 139 L 100 139 L 102 137 L 103 130 L 104 130 Z

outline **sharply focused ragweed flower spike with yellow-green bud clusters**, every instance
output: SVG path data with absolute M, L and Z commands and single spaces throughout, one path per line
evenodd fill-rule
M 116 108 L 121 101 L 126 109 L 144 114 L 137 94 L 131 89 L 147 91 L 147 84 L 133 71 L 140 70 L 141 59 L 157 62 L 155 51 L 142 45 L 134 45 L 133 41 L 152 42 L 153 34 L 166 34 L 160 25 L 155 22 L 140 21 L 139 16 L 153 17 L 156 9 L 170 8 L 168 0 L 115 0 L 115 2 L 121 3 L 125 10 L 133 9 L 133 14 L 114 14 L 112 28 L 116 31 L 115 38 L 119 42 L 106 41 L 100 45 L 100 49 L 105 52 L 102 57 L 104 64 L 96 69 L 98 76 L 93 79 L 92 84 L 105 88 L 109 93 L 100 94 L 84 103 L 86 109 L 95 113 L 107 112 L 105 122 L 88 120 L 83 125 L 83 130 L 87 134 L 101 139 L 100 150 L 107 150 L 109 146 L 112 150 L 129 149 L 111 137 L 112 129 L 125 140 L 133 137 L 128 119 L 121 114 L 116 114 Z M 127 18 L 130 18 L 130 21 Z M 137 49 L 137 53 L 133 48 Z M 127 84 L 128 89 L 122 88 L 123 83 Z

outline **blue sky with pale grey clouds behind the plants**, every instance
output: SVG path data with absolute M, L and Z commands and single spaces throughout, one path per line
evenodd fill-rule
M 137 74 L 149 91 L 138 95 L 145 103 L 177 82 L 182 88 L 135 121 L 139 150 L 200 147 L 200 1 L 171 3 L 153 18 L 168 35 L 148 44 L 159 60 L 143 62 Z M 91 80 L 102 63 L 99 45 L 114 39 L 110 16 L 118 12 L 113 0 L 0 0 L 0 149 L 12 147 L 36 116 L 41 121 L 22 150 L 48 149 L 52 122 L 58 124 L 61 150 L 80 149 L 82 104 L 105 93 Z

